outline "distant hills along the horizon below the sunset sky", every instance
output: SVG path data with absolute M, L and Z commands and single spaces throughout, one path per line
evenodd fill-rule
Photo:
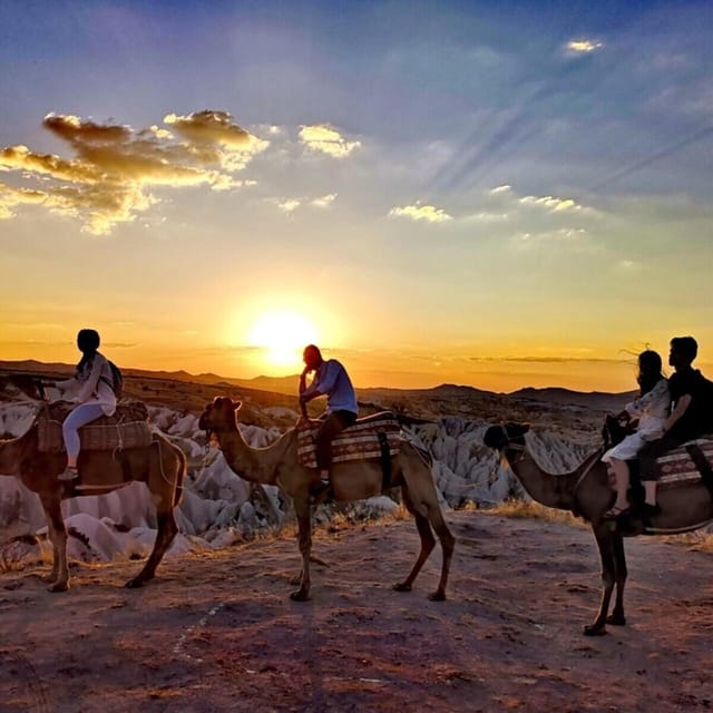
M 45 363 L 32 359 L 23 361 L 0 360 L 0 371 L 28 372 L 45 374 L 68 374 L 74 370 L 74 364 Z M 204 385 L 226 384 L 231 387 L 242 387 L 257 391 L 270 391 L 272 393 L 295 394 L 297 392 L 300 377 L 291 374 L 289 377 L 255 377 L 253 379 L 236 379 L 233 377 L 221 377 L 214 373 L 191 374 L 187 371 L 149 371 L 146 369 L 123 369 L 126 378 L 159 379 L 168 381 L 183 381 Z M 362 399 L 387 399 L 399 397 L 430 397 L 434 399 L 472 399 L 476 397 L 509 397 L 520 401 L 535 401 L 558 406 L 572 406 L 602 411 L 619 410 L 624 403 L 635 398 L 636 392 L 607 393 L 602 391 L 573 391 L 559 387 L 547 387 L 544 389 L 526 388 L 501 394 L 494 391 L 476 389 L 475 387 L 443 383 L 430 389 L 392 389 L 371 387 L 358 389 Z

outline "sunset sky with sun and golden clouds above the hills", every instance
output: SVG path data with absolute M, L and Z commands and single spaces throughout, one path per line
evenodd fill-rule
M 713 3 L 0 0 L 0 359 L 713 375 Z

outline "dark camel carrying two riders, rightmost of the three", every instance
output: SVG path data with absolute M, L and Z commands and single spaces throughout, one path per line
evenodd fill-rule
M 592 453 L 572 472 L 545 472 L 533 459 L 525 443 L 527 424 L 506 423 L 490 427 L 484 437 L 486 446 L 500 451 L 522 487 L 533 499 L 550 508 L 572 510 L 592 525 L 602 559 L 602 602 L 592 624 L 584 627 L 587 636 L 606 633 L 606 624 L 623 626 L 626 556 L 624 537 L 638 535 L 674 535 L 688 533 L 713 519 L 713 495 L 697 481 L 685 487 L 658 491 L 661 514 L 649 520 L 632 519 L 626 527 L 603 519 L 612 506 L 615 492 L 609 486 L 607 469 L 599 458 L 603 450 Z M 616 602 L 607 616 L 614 585 Z

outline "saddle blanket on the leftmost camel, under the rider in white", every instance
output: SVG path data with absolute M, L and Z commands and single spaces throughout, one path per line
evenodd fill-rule
M 37 414 L 38 449 L 43 453 L 65 450 L 62 421 L 76 404 L 65 401 L 49 403 Z M 117 406 L 114 416 L 102 416 L 79 429 L 81 450 L 123 450 L 145 448 L 152 442 L 148 409 L 143 401 Z

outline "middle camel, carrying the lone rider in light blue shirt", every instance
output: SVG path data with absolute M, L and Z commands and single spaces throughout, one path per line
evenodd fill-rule
M 267 448 L 251 448 L 236 423 L 240 402 L 218 397 L 206 406 L 198 421 L 208 438 L 215 436 L 231 469 L 250 482 L 275 485 L 291 496 L 299 525 L 302 555 L 300 588 L 290 596 L 297 602 L 310 598 L 310 555 L 312 550 L 312 515 L 310 486 L 314 470 L 297 462 L 297 432 L 291 429 Z M 331 471 L 334 499 L 349 502 L 377 496 L 383 490 L 383 471 L 378 460 L 354 460 L 334 463 Z M 391 457 L 389 487 L 400 487 L 403 504 L 416 518 L 421 538 L 421 551 L 409 576 L 393 586 L 397 592 L 410 592 L 411 585 L 436 546 L 431 526 L 441 543 L 442 565 L 438 588 L 429 598 L 446 598 L 446 583 L 453 555 L 455 538 L 443 519 L 431 470 L 411 443 L 403 441 L 400 452 Z

